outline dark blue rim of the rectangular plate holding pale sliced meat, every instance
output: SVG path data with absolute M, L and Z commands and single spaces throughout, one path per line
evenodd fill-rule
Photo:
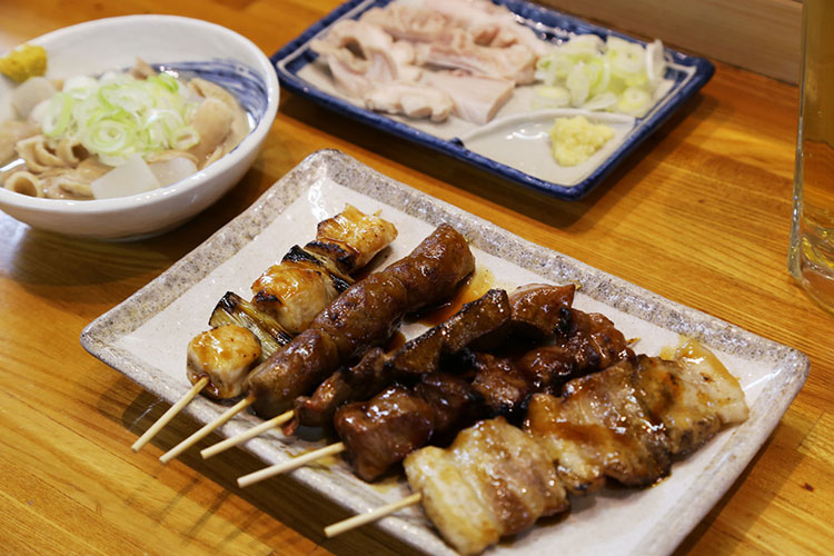
M 513 168 L 483 155 L 473 152 L 464 147 L 463 142 L 457 138 L 450 140 L 440 139 L 420 131 L 408 123 L 359 108 L 341 98 L 315 88 L 308 81 L 305 81 L 297 76 L 301 68 L 314 61 L 317 57 L 317 54 L 307 46 L 311 39 L 342 18 L 355 19 L 370 8 L 381 8 L 391 1 L 393 0 L 349 0 L 310 26 L 298 36 L 298 38 L 274 53 L 270 57 L 270 61 L 275 66 L 281 86 L 296 95 L 306 97 L 325 108 L 344 113 L 363 123 L 429 147 L 502 178 L 564 200 L 579 200 L 589 193 L 590 190 L 599 185 L 617 166 L 619 166 L 632 151 L 641 146 L 666 120 L 668 120 L 672 115 L 681 109 L 689 98 L 701 90 L 715 72 L 715 66 L 704 58 L 687 56 L 668 48 L 665 49 L 667 59 L 671 59 L 675 64 L 681 67 L 691 68 L 691 78 L 682 82 L 683 78 L 676 77 L 676 87 L 673 88 L 674 93 L 667 93 L 667 96 L 664 97 L 664 99 L 661 99 L 656 108 L 649 111 L 647 116 L 638 118 L 626 140 L 612 153 L 610 157 L 608 157 L 580 182 L 573 186 L 565 186 L 536 178 L 518 170 L 517 168 Z M 532 27 L 540 37 L 546 37 L 550 40 L 566 39 L 573 33 L 595 33 L 602 38 L 614 36 L 631 42 L 645 44 L 645 41 L 641 41 L 634 37 L 613 31 L 602 26 L 588 23 L 578 18 L 555 10 L 534 6 L 523 0 L 493 0 L 493 2 L 499 6 L 505 6 L 517 16 L 519 21 Z M 677 87 L 678 85 L 679 87 Z

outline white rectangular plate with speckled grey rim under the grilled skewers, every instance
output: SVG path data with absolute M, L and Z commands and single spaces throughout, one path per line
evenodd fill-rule
M 807 358 L 792 348 L 525 241 L 332 150 L 309 156 L 244 214 L 96 319 L 82 332 L 82 345 L 143 388 L 173 403 L 189 387 L 186 345 L 208 328 L 217 300 L 227 290 L 248 297 L 251 281 L 265 268 L 290 246 L 312 238 L 316 224 L 341 210 L 345 202 L 364 211 L 381 210 L 399 229 L 380 266 L 409 252 L 435 226 L 449 222 L 469 239 L 479 269 L 494 275 L 496 286 L 579 282 L 575 306 L 604 312 L 626 337 L 642 338 L 637 351 L 657 355 L 663 346 L 677 344 L 679 335 L 693 336 L 741 379 L 749 419 L 676 463 L 667 479 L 644 490 L 603 490 L 584 499 L 574 497 L 565 519 L 537 525 L 490 548 L 490 554 L 558 550 L 645 556 L 672 552 L 738 477 L 807 376 Z M 407 337 L 418 331 L 418 325 L 405 330 Z M 186 410 L 206 423 L 222 409 L 198 397 Z M 251 415 L 240 416 L 220 431 L 231 436 L 257 421 Z M 246 449 L 266 464 L 275 464 L 318 446 L 274 433 L 250 440 Z M 292 477 L 355 512 L 378 507 L 408 492 L 405 480 L 396 477 L 383 485 L 365 484 L 341 461 L 302 468 Z M 426 554 L 454 554 L 419 508 L 385 518 L 379 527 Z

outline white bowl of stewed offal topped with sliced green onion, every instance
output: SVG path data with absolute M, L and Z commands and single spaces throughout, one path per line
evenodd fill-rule
M 111 18 L 28 44 L 21 82 L 0 78 L 0 208 L 36 228 L 176 227 L 240 180 L 277 110 L 266 56 L 205 21 Z

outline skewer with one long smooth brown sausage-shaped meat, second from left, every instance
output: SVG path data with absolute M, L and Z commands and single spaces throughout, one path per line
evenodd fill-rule
M 250 405 L 264 418 L 288 411 L 297 396 L 308 394 L 339 366 L 387 340 L 406 314 L 451 297 L 474 269 L 466 239 L 451 226 L 439 226 L 410 255 L 345 290 L 308 329 L 249 374 L 246 398 L 160 460 L 167 463 L 182 453 L 230 419 L 232 411 Z

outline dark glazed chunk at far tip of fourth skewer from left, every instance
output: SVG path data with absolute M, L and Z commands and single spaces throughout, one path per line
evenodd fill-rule
M 559 310 L 564 318 L 558 327 L 566 330 L 564 335 L 516 360 L 536 391 L 558 395 L 572 378 L 634 358 L 623 332 L 604 315 L 564 307 Z

